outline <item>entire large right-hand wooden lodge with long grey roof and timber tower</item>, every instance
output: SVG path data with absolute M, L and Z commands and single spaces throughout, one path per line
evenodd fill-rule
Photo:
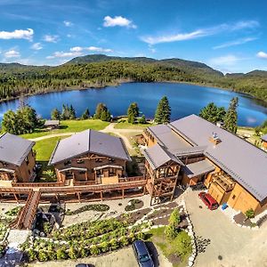
M 164 170 L 175 166 L 177 184 L 193 186 L 202 182 L 219 204 L 228 203 L 243 213 L 252 208 L 260 214 L 267 208 L 266 153 L 236 135 L 191 115 L 147 128 L 143 142 L 147 145 L 143 154 L 151 197 L 163 198 L 169 192 L 159 182 L 158 174 L 166 179 L 168 171 Z M 159 166 L 160 150 L 169 161 Z M 174 190 L 171 198 L 173 194 Z

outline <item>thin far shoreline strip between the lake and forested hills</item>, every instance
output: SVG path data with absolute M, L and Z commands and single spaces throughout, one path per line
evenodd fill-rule
M 123 80 L 117 80 L 111 83 L 107 83 L 105 85 L 86 85 L 86 86 L 72 86 L 72 87 L 65 87 L 65 88 L 60 88 L 60 89 L 51 89 L 45 92 L 39 92 L 39 93 L 26 93 L 26 94 L 21 94 L 20 96 L 16 96 L 16 97 L 12 97 L 9 99 L 1 99 L 0 103 L 3 102 L 8 102 L 8 101 L 15 101 L 18 100 L 20 98 L 24 98 L 24 97 L 29 97 L 29 96 L 34 96 L 34 95 L 43 95 L 43 94 L 47 94 L 47 93 L 61 93 L 61 92 L 68 92 L 68 91 L 83 91 L 83 90 L 88 90 L 88 89 L 103 89 L 109 86 L 119 86 L 122 84 L 126 84 L 126 83 L 148 83 L 148 84 L 153 84 L 153 83 L 167 83 L 167 84 L 183 84 L 183 85 L 198 85 L 199 87 L 212 87 L 215 89 L 219 89 L 219 90 L 225 90 L 228 92 L 233 92 L 233 93 L 241 93 L 244 94 L 245 96 L 254 99 L 256 101 L 261 101 L 263 102 L 263 105 L 267 107 L 267 101 L 263 100 L 263 99 L 259 99 L 256 98 L 254 95 L 249 94 L 249 93 L 243 93 L 243 92 L 239 92 L 239 91 L 234 91 L 231 88 L 225 88 L 225 87 L 220 87 L 220 86 L 215 86 L 212 84 L 198 84 L 198 83 L 193 83 L 193 82 L 180 82 L 180 81 L 153 81 L 153 82 L 138 82 L 138 81 L 134 81 L 134 80 L 130 80 L 130 79 L 123 79 Z

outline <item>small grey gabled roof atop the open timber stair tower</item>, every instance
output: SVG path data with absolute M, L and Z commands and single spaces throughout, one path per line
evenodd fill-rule
M 143 154 L 154 170 L 159 166 L 163 166 L 170 160 L 173 160 L 183 166 L 183 163 L 179 158 L 176 158 L 172 153 L 168 152 L 158 143 L 146 150 L 143 150 Z

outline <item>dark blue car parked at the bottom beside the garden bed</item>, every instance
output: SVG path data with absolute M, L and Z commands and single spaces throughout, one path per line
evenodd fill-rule
M 134 255 L 140 267 L 154 267 L 153 260 L 145 242 L 142 240 L 134 241 Z

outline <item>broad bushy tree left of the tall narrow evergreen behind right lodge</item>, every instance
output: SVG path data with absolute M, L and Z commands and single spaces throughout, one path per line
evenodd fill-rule
M 200 110 L 199 117 L 203 117 L 214 124 L 218 121 L 223 122 L 225 113 L 226 112 L 223 107 L 217 107 L 214 102 L 211 102 L 207 104 L 205 108 Z

